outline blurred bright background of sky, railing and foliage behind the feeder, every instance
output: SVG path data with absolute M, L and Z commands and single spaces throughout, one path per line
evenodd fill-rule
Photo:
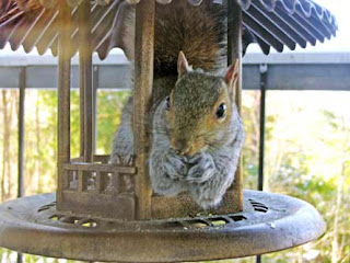
M 244 58 L 245 188 L 258 187 L 259 68 L 267 65 L 264 191 L 310 202 L 327 224 L 327 231 L 319 240 L 264 255 L 262 262 L 350 262 L 350 81 L 347 81 L 350 75 L 350 19 L 347 13 L 350 2 L 317 2 L 336 15 L 339 24 L 336 38 L 293 53 L 272 52 L 269 56 L 261 55 L 257 47 L 250 45 Z M 98 77 L 95 132 L 95 151 L 98 155 L 109 153 L 122 104 L 130 94 L 124 79 L 128 62 L 122 53 L 115 49 L 108 59 L 94 60 Z M 21 68 L 26 68 L 28 79 L 24 107 L 24 195 L 56 191 L 57 91 L 56 79 L 51 77 L 56 73 L 56 62 L 50 54 L 39 57 L 36 52 L 28 55 L 12 53 L 10 47 L 0 50 L 0 68 L 2 72 L 9 71 L 0 75 L 1 203 L 18 195 L 20 92 L 15 84 L 11 84 L 14 68 L 19 73 Z M 113 76 L 116 72 L 119 76 Z M 250 77 L 249 72 L 256 72 L 256 76 Z M 307 72 L 314 79 L 307 78 Z M 72 90 L 71 102 L 71 152 L 78 156 L 78 90 Z M 2 263 L 16 262 L 16 259 L 15 252 L 0 249 Z M 24 262 L 72 261 L 25 254 Z M 256 259 L 224 262 L 256 262 Z

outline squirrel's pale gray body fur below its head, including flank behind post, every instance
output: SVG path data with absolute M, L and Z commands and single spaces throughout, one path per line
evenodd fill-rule
M 189 191 L 196 203 L 207 209 L 220 204 L 222 196 L 234 180 L 240 153 L 244 142 L 244 129 L 235 104 L 230 123 L 230 136 L 223 133 L 225 142 L 209 147 L 191 158 L 176 155 L 170 144 L 168 124 L 163 100 L 153 117 L 153 140 L 150 152 L 150 178 L 155 193 L 174 196 Z M 110 162 L 127 163 L 133 153 L 131 126 L 132 98 L 127 102 L 112 148 Z M 221 135 L 222 136 L 222 135 Z M 119 157 L 119 158 L 118 158 Z

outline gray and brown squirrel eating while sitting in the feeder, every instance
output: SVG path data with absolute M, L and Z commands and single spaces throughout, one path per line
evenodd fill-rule
M 124 41 L 133 43 L 135 18 L 127 23 Z M 187 191 L 203 209 L 217 207 L 232 184 L 244 142 L 234 92 L 238 60 L 225 75 L 218 73 L 224 61 L 225 32 L 225 8 L 211 0 L 199 7 L 186 0 L 156 5 L 153 88 L 158 94 L 148 124 L 152 190 L 165 196 Z M 132 60 L 132 47 L 125 53 Z M 110 162 L 127 162 L 132 153 L 131 96 L 114 136 Z

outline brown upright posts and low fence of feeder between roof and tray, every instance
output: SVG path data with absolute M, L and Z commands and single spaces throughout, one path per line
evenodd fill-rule
M 69 64 L 71 52 L 70 44 L 67 44 L 71 28 L 71 10 L 68 4 L 60 4 L 62 16 L 62 28 L 59 35 L 58 55 L 60 58 L 59 68 L 66 78 L 70 73 L 66 68 Z M 59 157 L 58 176 L 62 186 L 58 187 L 57 207 L 62 213 L 75 211 L 86 216 L 103 216 L 115 219 L 165 219 L 171 217 L 186 217 L 197 215 L 202 210 L 191 201 L 188 194 L 175 197 L 152 195 L 149 180 L 149 168 L 147 165 L 148 151 L 150 148 L 150 135 L 147 130 L 145 116 L 152 104 L 153 82 L 153 53 L 154 53 L 154 16 L 155 1 L 141 1 L 136 5 L 136 53 L 135 53 L 135 88 L 133 88 L 133 138 L 135 138 L 135 162 L 131 167 L 120 167 L 110 163 L 96 164 L 96 158 L 92 156 L 93 140 L 93 98 L 92 98 L 92 49 L 90 45 L 91 12 L 90 2 L 83 1 L 78 8 L 79 23 L 79 52 L 80 52 L 80 92 L 81 92 L 81 157 L 70 160 L 69 148 L 69 80 L 67 87 L 60 88 L 59 102 L 59 137 L 58 147 L 62 156 Z M 229 60 L 238 58 L 241 61 L 241 18 L 242 9 L 236 1 L 229 3 L 229 12 L 236 20 L 229 20 Z M 63 45 L 63 47 L 61 46 Z M 65 49 L 62 49 L 65 48 Z M 68 53 L 67 57 L 65 52 Z M 61 59 L 65 59 L 65 64 Z M 62 68 L 61 68 L 62 67 Z M 67 70 L 67 71 L 65 71 Z M 61 84 L 63 85 L 62 82 Z M 68 94 L 63 91 L 68 89 Z M 241 105 L 241 81 L 237 81 L 236 102 Z M 62 95 L 61 95 L 62 93 Z M 154 92 L 156 93 L 156 91 Z M 65 95 L 63 95 L 65 94 Z M 65 99 L 63 99 L 65 98 Z M 63 121 L 65 118 L 65 121 Z M 67 119 L 68 118 L 68 119 Z M 67 124 L 66 124 L 67 123 Z M 67 126 L 65 126 L 66 124 Z M 68 140 L 68 141 L 67 141 Z M 63 147 L 67 147 L 63 148 Z M 65 158 L 63 158 L 65 149 Z M 67 161 L 69 160 L 69 161 Z M 100 160 L 101 157 L 100 157 Z M 105 159 L 105 162 L 107 159 Z M 133 160 L 132 160 L 133 161 Z M 135 165 L 135 167 L 133 167 Z M 137 169 L 136 169 L 137 168 Z M 122 174 L 124 170 L 130 174 Z M 137 171 L 137 172 L 136 172 Z M 122 176 L 129 176 L 131 182 L 126 188 L 122 185 Z M 212 209 L 210 214 L 228 214 L 242 211 L 242 172 L 237 170 L 233 186 L 224 196 L 222 205 Z

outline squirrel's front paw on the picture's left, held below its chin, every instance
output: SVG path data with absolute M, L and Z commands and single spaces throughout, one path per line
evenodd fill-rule
M 173 180 L 183 180 L 187 175 L 187 158 L 170 149 L 164 157 L 163 168 Z

